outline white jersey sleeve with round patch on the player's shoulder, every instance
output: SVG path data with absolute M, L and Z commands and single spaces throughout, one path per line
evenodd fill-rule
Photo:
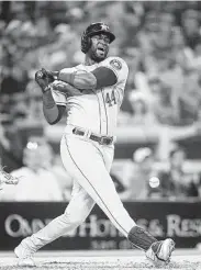
M 124 97 L 125 83 L 129 76 L 127 64 L 120 57 L 108 57 L 101 63 L 101 66 L 110 68 L 116 75 L 118 82 L 114 86 L 114 90 L 118 104 L 121 106 Z

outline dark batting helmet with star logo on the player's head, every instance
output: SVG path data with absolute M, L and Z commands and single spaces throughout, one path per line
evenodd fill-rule
M 96 34 L 107 34 L 110 37 L 110 43 L 115 40 L 115 35 L 110 31 L 109 25 L 102 22 L 91 23 L 81 36 L 81 52 L 86 54 L 91 46 L 91 36 Z

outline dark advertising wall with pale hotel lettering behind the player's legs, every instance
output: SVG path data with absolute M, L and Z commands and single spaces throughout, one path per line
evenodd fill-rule
M 12 250 L 24 237 L 36 233 L 63 214 L 66 203 L 0 203 L 0 250 Z M 171 237 L 177 247 L 201 243 L 201 202 L 136 201 L 124 203 L 134 221 L 157 239 Z M 75 232 L 44 249 L 130 249 L 131 244 L 96 206 Z

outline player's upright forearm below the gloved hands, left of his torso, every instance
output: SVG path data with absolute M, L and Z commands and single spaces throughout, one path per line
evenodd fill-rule
M 59 111 L 51 90 L 43 93 L 43 113 L 49 124 L 55 123 L 58 119 Z

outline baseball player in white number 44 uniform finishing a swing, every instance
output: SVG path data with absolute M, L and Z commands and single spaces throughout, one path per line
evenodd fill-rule
M 36 250 L 76 229 L 97 203 L 113 225 L 154 263 L 168 263 L 172 239 L 158 241 L 138 227 L 124 209 L 110 177 L 116 119 L 124 95 L 129 68 L 120 57 L 108 57 L 115 40 L 104 23 L 92 23 L 81 36 L 85 63 L 60 71 L 38 70 L 35 79 L 43 91 L 43 110 L 49 124 L 67 111 L 60 142 L 64 167 L 74 179 L 71 200 L 65 213 L 14 249 L 31 260 Z M 32 262 L 30 262 L 32 263 Z

